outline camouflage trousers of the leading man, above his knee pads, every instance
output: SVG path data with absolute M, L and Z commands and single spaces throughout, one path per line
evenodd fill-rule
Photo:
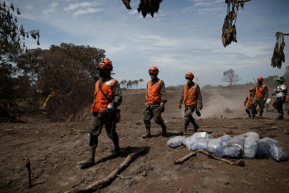
M 112 141 L 118 141 L 118 135 L 115 130 L 115 120 L 113 113 L 108 115 L 107 117 L 101 117 L 98 116 L 99 113 L 92 113 L 91 118 L 90 118 L 90 131 L 94 135 L 94 138 L 97 138 L 98 135 L 101 133 L 101 129 L 103 125 L 105 125 L 105 130 L 107 136 L 112 140 Z M 111 132 L 112 130 L 112 132 Z

